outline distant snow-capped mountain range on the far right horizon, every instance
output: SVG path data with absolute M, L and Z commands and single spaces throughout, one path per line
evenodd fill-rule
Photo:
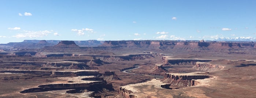
M 256 38 L 253 38 L 253 37 L 235 37 L 235 38 L 219 37 L 219 38 L 215 38 L 214 41 L 256 41 Z

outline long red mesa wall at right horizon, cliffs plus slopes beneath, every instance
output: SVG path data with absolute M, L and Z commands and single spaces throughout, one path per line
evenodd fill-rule
M 170 41 L 170 40 L 144 40 L 144 41 L 105 41 L 102 47 L 123 50 L 141 51 L 173 51 L 209 53 L 223 52 L 228 54 L 256 54 L 254 42 L 216 42 L 216 41 Z M 118 47 L 118 48 L 116 48 Z

